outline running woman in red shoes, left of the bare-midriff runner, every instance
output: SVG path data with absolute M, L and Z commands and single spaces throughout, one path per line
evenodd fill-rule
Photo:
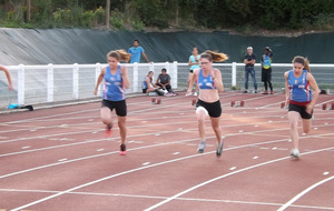
M 118 127 L 120 131 L 120 154 L 126 154 L 126 115 L 127 104 L 125 89 L 130 88 L 128 79 L 128 71 L 125 66 L 119 66 L 119 61 L 128 61 L 130 54 L 125 50 L 110 51 L 107 54 L 108 67 L 102 68 L 97 80 L 94 93 L 97 94 L 99 84 L 105 80 L 105 87 L 102 91 L 102 108 L 101 119 L 104 124 L 107 125 L 107 135 L 111 134 L 112 120 L 111 112 L 115 109 L 118 118 Z

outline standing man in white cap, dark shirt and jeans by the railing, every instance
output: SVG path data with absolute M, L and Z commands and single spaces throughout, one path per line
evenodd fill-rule
M 256 62 L 256 56 L 253 53 L 253 48 L 247 48 L 247 54 L 244 58 L 245 66 L 245 91 L 244 93 L 248 93 L 248 76 L 252 76 L 253 83 L 254 83 L 254 93 L 257 93 L 257 83 L 255 78 L 255 70 L 254 64 Z

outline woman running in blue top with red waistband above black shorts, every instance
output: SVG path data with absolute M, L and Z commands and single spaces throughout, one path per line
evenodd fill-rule
M 311 130 L 311 119 L 313 109 L 320 89 L 313 76 L 310 72 L 308 60 L 303 57 L 295 57 L 293 60 L 293 70 L 284 73 L 285 77 L 285 91 L 286 91 L 286 104 L 288 104 L 288 121 L 291 125 L 291 139 L 294 148 L 291 151 L 291 155 L 299 158 L 298 150 L 298 119 L 303 120 L 303 131 L 308 133 Z M 311 88 L 314 90 L 312 94 Z

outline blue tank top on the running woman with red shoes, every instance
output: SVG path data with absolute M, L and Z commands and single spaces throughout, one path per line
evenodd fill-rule
M 126 99 L 124 82 L 120 73 L 120 66 L 117 67 L 116 74 L 111 74 L 110 67 L 106 68 L 105 73 L 105 88 L 102 99 L 109 101 L 121 101 Z

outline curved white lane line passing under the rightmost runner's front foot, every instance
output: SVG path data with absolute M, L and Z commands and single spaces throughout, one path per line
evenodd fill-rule
M 306 152 L 306 153 L 303 153 L 303 154 L 317 153 L 317 152 L 322 152 L 322 151 L 327 151 L 327 150 L 330 150 L 330 149 L 334 149 L 334 148 L 326 148 L 326 149 L 315 150 L 315 151 L 313 151 L 313 152 Z M 191 187 L 191 188 L 189 188 L 189 189 L 187 189 L 187 190 L 185 190 L 185 191 L 183 191 L 183 192 L 179 192 L 179 193 L 177 193 L 177 194 L 175 194 L 175 195 L 173 195 L 173 197 L 169 197 L 168 199 L 166 199 L 166 200 L 164 200 L 164 201 L 161 201 L 161 202 L 159 202 L 159 203 L 156 203 L 156 204 L 154 204 L 154 205 L 147 208 L 145 211 L 154 210 L 154 209 L 156 209 L 156 208 L 158 208 L 158 207 L 161 207 L 161 205 L 165 204 L 165 203 L 168 203 L 168 202 L 171 201 L 171 200 L 175 200 L 176 198 L 179 198 L 179 197 L 183 195 L 183 194 L 186 194 L 186 193 L 188 193 L 188 192 L 190 192 L 190 191 L 193 191 L 193 190 L 195 190 L 195 189 L 198 189 L 198 188 L 200 188 L 200 187 L 204 187 L 204 185 L 206 185 L 206 184 L 209 184 L 209 183 L 215 182 L 215 181 L 217 181 L 217 180 L 220 180 L 220 179 L 223 179 L 223 178 L 227 178 L 227 177 L 233 175 L 233 174 L 236 174 L 236 173 L 240 173 L 240 172 L 244 172 L 244 171 L 247 171 L 247 170 L 250 170 L 250 169 L 255 169 L 255 168 L 257 168 L 257 167 L 263 167 L 263 165 L 266 165 L 266 164 L 272 164 L 272 163 L 275 163 L 275 162 L 278 162 L 278 161 L 283 161 L 283 160 L 286 160 L 286 159 L 291 159 L 291 157 L 283 157 L 283 158 L 279 158 L 279 159 L 275 159 L 275 160 L 262 162 L 262 163 L 258 163 L 258 164 L 255 164 L 255 165 L 246 167 L 246 168 L 240 169 L 240 170 L 236 170 L 236 171 L 230 172 L 230 173 L 227 173 L 227 174 L 219 175 L 219 177 L 217 177 L 217 178 L 214 178 L 214 179 L 212 179 L 212 180 L 208 180 L 208 181 L 205 181 L 205 182 L 203 182 L 203 183 L 199 183 L 199 184 L 197 184 L 197 185 L 195 185 L 195 187 Z M 334 175 L 332 177 L 332 179 L 333 179 L 333 178 L 334 178 Z

